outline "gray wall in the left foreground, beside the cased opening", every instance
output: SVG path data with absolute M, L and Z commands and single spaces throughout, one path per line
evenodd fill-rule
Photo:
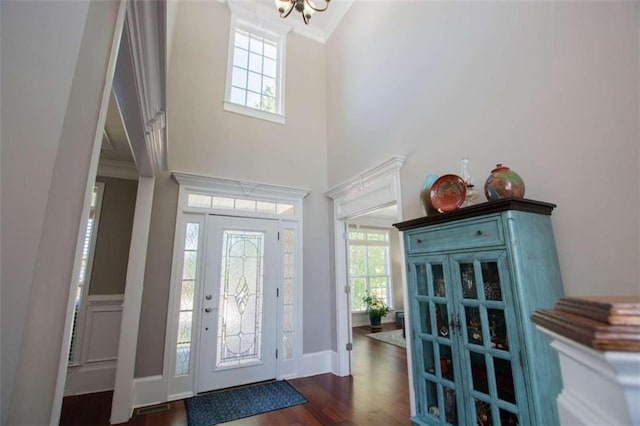
M 48 424 L 118 4 L 0 7 L 0 411 L 2 424 Z

